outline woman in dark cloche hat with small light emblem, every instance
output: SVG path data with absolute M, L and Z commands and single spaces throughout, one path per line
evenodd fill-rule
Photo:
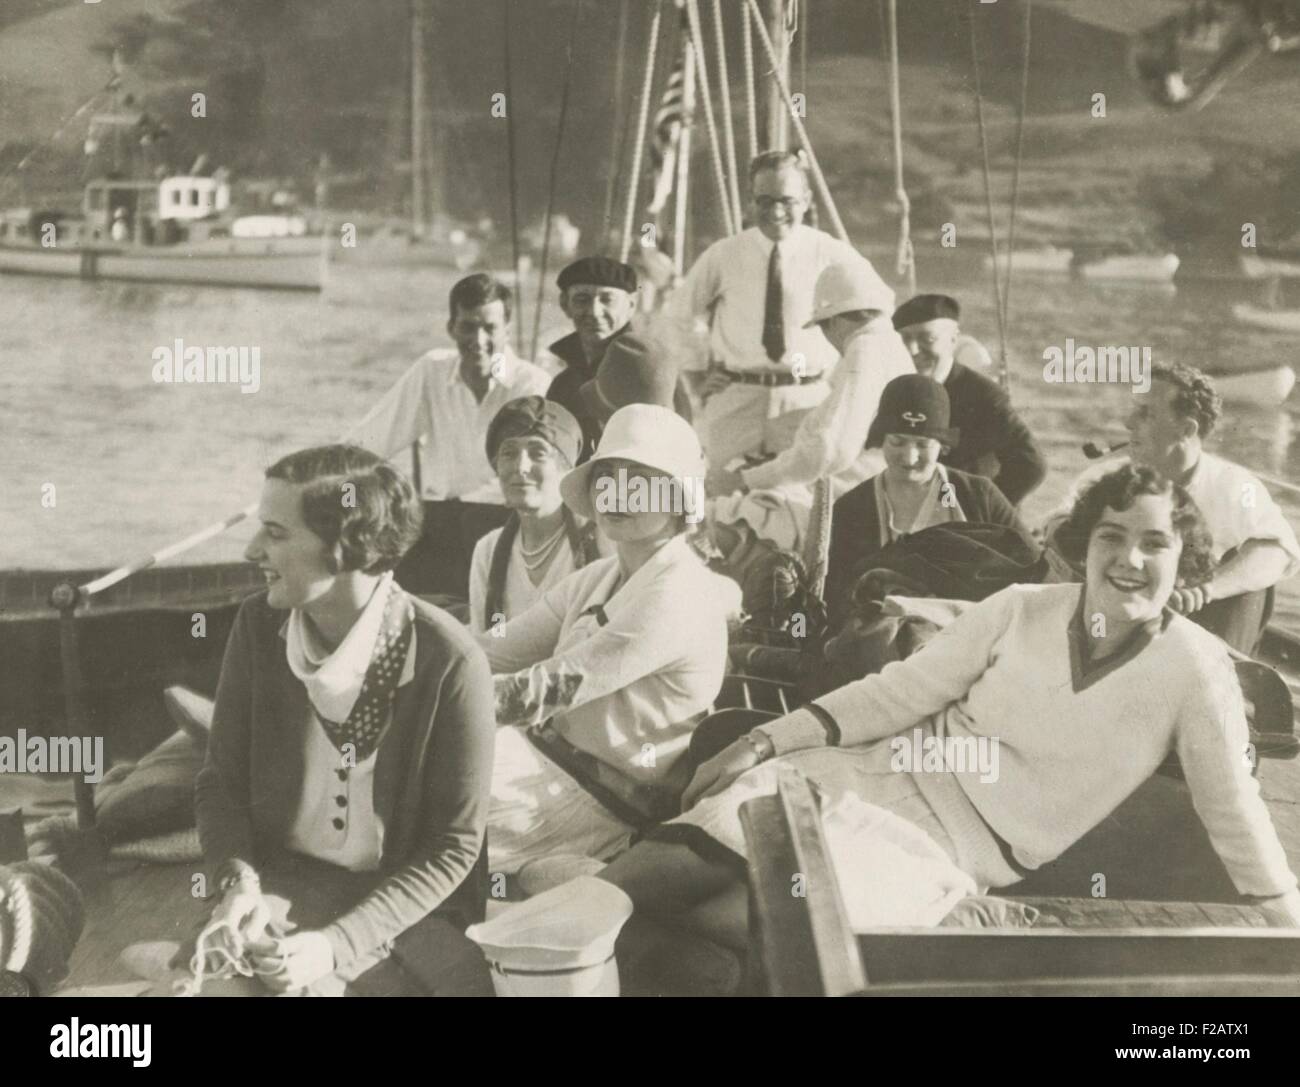
M 885 386 L 867 436 L 867 447 L 884 452 L 885 469 L 835 503 L 828 601 L 850 598 L 863 559 L 931 525 L 1000 524 L 1031 540 L 1011 503 L 991 480 L 940 463 L 940 456 L 959 439 L 961 434 L 949 426 L 948 393 L 937 381 L 909 373 Z

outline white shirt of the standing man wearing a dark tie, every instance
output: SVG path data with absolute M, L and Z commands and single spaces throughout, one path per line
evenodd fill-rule
M 727 369 L 772 372 L 777 367 L 763 348 L 767 267 L 774 244 L 757 226 L 714 242 L 668 303 L 675 324 L 684 332 L 698 332 L 705 320 L 710 321 L 710 354 Z M 812 316 L 812 289 L 828 264 L 866 257 L 848 242 L 802 224 L 780 246 L 785 322 L 780 367 L 789 369 L 802 356 L 805 373 L 828 371 L 835 365 L 836 350 L 820 329 L 803 328 Z M 688 368 L 705 369 L 706 364 L 706 359 L 694 359 Z

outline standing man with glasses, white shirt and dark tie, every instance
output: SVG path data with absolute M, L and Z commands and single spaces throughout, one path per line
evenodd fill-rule
M 826 398 L 836 351 L 805 328 L 812 287 L 828 264 L 863 260 L 803 225 L 812 190 L 797 155 L 763 152 L 749 179 L 755 225 L 710 246 L 670 302 L 681 330 L 708 322 L 707 364 L 696 360 L 686 378 L 705 402 L 699 432 L 715 468 L 781 452 Z

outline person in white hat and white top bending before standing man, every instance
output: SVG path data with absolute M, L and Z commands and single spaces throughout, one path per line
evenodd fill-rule
M 884 467 L 879 450 L 864 449 L 867 432 L 885 385 L 915 373 L 889 320 L 893 302 L 893 290 L 861 257 L 831 264 L 818 276 L 806 328 L 819 328 L 840 354 L 831 391 L 803 416 L 794 442 L 775 459 L 738 472 L 716 467 L 710 472 L 708 488 L 718 495 L 715 525 L 744 519 L 783 547 L 800 546 L 814 482 L 828 477 L 832 498 L 838 498 Z

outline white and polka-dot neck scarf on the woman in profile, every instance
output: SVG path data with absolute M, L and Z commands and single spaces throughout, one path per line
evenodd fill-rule
M 325 735 L 354 765 L 369 758 L 384 736 L 413 624 L 415 606 L 391 575 L 376 589 L 348 636 L 324 659 L 313 659 L 315 638 L 304 631 L 302 616 L 295 611 L 290 618 L 290 668 L 307 688 Z

